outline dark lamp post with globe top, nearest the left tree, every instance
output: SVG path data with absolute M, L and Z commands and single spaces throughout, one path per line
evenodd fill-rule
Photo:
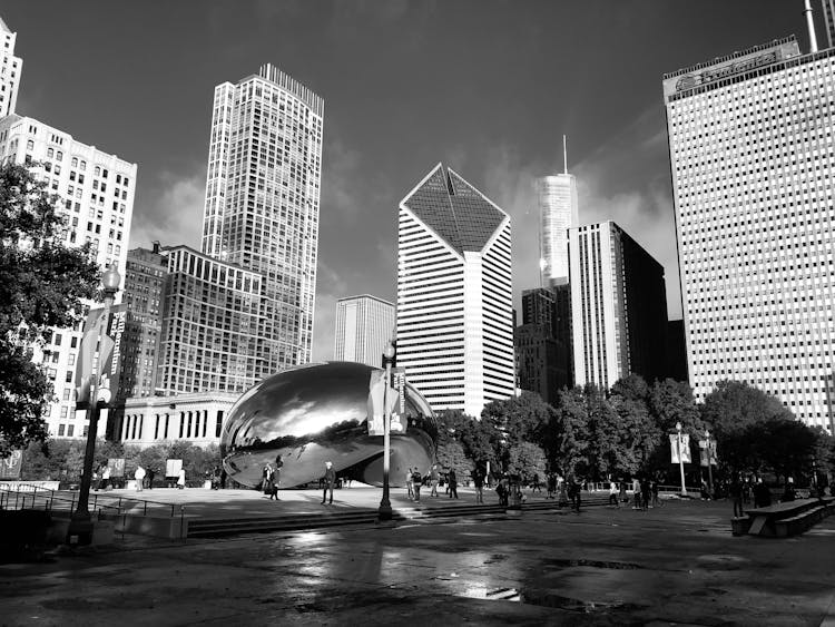
M 121 283 L 121 276 L 119 271 L 116 270 L 116 262 L 114 262 L 107 271 L 101 275 L 101 287 L 105 294 L 105 311 L 99 319 L 96 329 L 96 350 L 94 357 L 91 380 L 90 380 L 90 398 L 87 403 L 87 448 L 85 449 L 85 464 L 81 472 L 81 487 L 78 493 L 78 506 L 76 511 L 72 512 L 72 519 L 70 520 L 68 537 L 78 536 L 79 543 L 89 543 L 92 535 L 92 523 L 90 522 L 90 511 L 88 509 L 88 501 L 90 498 L 90 482 L 92 480 L 92 460 L 96 454 L 96 432 L 98 427 L 99 408 L 98 408 L 98 394 L 99 394 L 99 378 L 101 376 L 101 336 L 104 335 L 104 326 L 107 325 L 107 321 L 110 317 L 110 307 L 114 304 L 114 297 L 119 291 L 119 284 Z

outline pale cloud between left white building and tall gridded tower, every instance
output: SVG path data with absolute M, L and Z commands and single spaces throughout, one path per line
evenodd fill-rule
M 149 247 L 151 242 L 158 241 L 164 246 L 186 244 L 199 249 L 205 172 L 186 176 L 164 172 L 154 189 L 154 197 L 139 198 L 134 207 L 130 247 Z

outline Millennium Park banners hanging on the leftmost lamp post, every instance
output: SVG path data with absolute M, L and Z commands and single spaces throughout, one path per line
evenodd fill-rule
M 98 402 L 107 404 L 116 396 L 119 386 L 121 335 L 125 332 L 127 312 L 125 304 L 110 307 L 108 320 L 105 320 L 104 307 L 90 310 L 87 314 L 76 362 L 77 410 L 85 410 L 89 406 L 90 388 L 96 374 L 99 376 L 96 392 Z

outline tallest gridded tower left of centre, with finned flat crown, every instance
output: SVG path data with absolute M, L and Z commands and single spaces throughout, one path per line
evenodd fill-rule
M 255 380 L 311 360 L 323 111 L 271 65 L 215 88 L 202 252 L 264 277 Z

